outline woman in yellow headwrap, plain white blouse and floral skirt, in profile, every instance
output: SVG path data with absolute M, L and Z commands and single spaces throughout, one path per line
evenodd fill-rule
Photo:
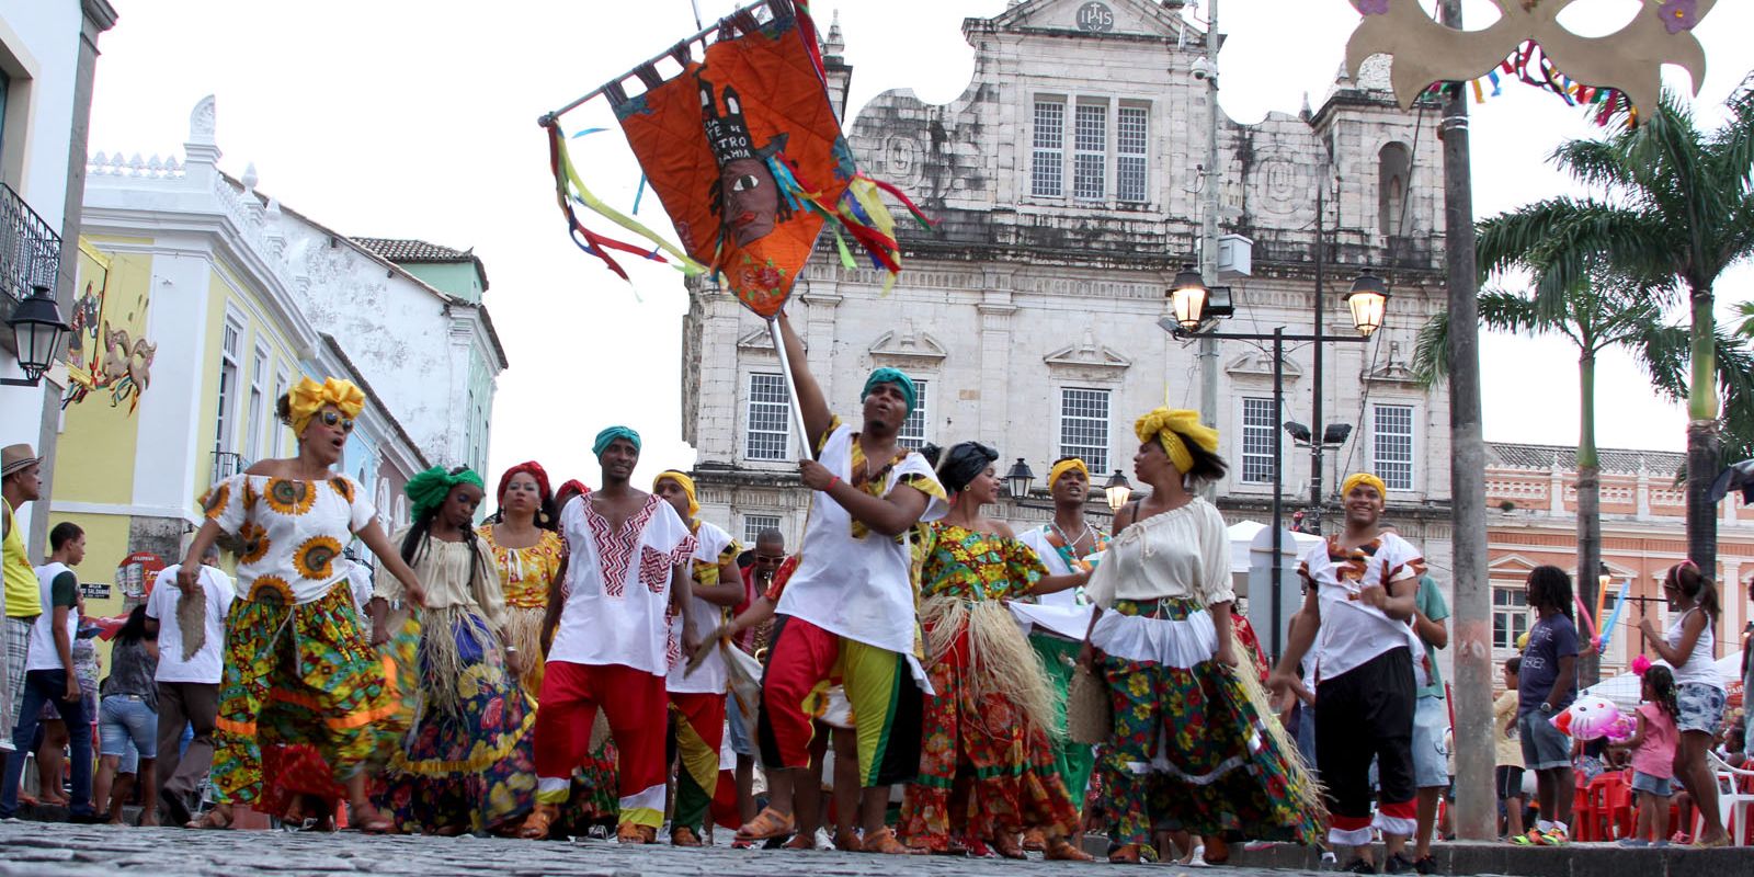
M 1228 858 L 1224 835 L 1310 842 L 1321 798 L 1235 642 L 1224 519 L 1191 493 L 1224 477 L 1217 431 L 1170 409 L 1135 431 L 1151 495 L 1116 514 L 1084 588 L 1096 616 L 1079 658 L 1114 705 L 1096 765 L 1109 861 L 1149 856 L 1158 830 L 1205 837 L 1209 863 Z

